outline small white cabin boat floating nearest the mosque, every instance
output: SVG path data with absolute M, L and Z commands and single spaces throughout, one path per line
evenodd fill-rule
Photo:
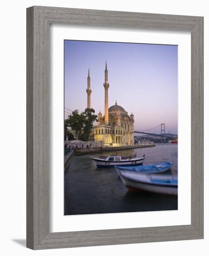
M 109 155 L 105 158 L 95 158 L 92 160 L 96 163 L 97 167 L 114 167 L 114 166 L 137 166 L 144 162 L 145 155 L 143 157 L 135 156 L 120 156 L 120 155 Z

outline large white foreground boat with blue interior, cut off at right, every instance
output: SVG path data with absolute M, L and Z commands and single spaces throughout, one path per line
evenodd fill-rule
M 129 190 L 144 190 L 152 193 L 177 195 L 177 178 L 171 174 L 146 174 L 119 170 L 118 174 Z

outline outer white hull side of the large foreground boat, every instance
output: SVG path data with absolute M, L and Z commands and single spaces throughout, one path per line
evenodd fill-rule
M 141 175 L 141 174 L 140 174 Z M 144 175 L 144 174 L 143 174 Z M 119 176 L 126 186 L 126 188 L 130 191 L 132 190 L 143 190 L 151 193 L 159 193 L 159 194 L 168 194 L 168 195 L 177 195 L 178 194 L 178 187 L 177 185 L 163 185 L 163 184 L 153 184 L 143 181 L 136 181 L 133 179 L 128 178 L 125 175 L 122 175 L 122 172 L 119 171 Z

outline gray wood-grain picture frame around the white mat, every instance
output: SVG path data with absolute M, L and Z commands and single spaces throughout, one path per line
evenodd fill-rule
M 51 23 L 191 32 L 190 225 L 50 233 L 49 25 Z M 26 227 L 26 246 L 31 249 L 203 238 L 203 17 L 58 7 L 27 8 Z

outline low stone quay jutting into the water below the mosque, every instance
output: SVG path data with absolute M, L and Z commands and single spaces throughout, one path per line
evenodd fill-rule
M 74 150 L 75 155 L 85 155 L 89 153 L 102 153 L 107 151 L 118 151 L 118 150 L 128 150 L 134 148 L 150 148 L 155 147 L 155 144 L 139 144 L 139 145 L 132 145 L 132 146 L 121 146 L 121 147 L 100 147 L 100 148 L 76 148 Z

